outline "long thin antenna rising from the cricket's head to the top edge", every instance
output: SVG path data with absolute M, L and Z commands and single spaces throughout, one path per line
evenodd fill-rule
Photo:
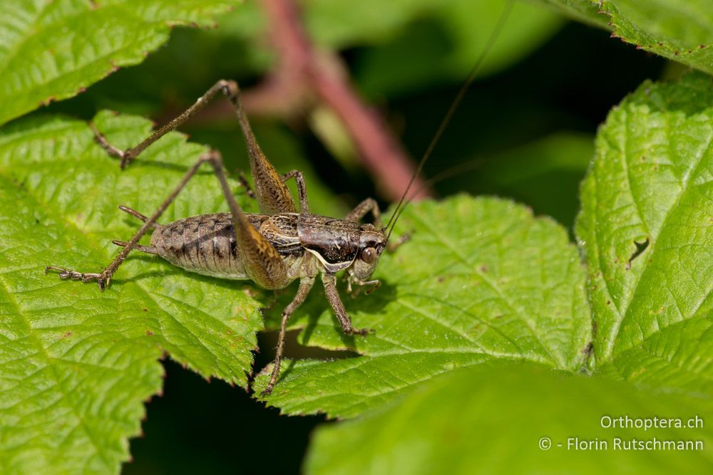
M 471 87 L 473 80 L 475 80 L 476 74 L 478 73 L 481 66 L 483 65 L 483 61 L 485 61 L 486 56 L 488 56 L 488 53 L 491 51 L 491 48 L 493 48 L 493 45 L 495 44 L 501 31 L 503 31 L 503 27 L 505 26 L 506 21 L 508 20 L 508 16 L 510 16 L 510 12 L 513 9 L 513 4 L 515 4 L 515 0 L 506 0 L 505 9 L 503 9 L 503 13 L 501 14 L 500 18 L 498 19 L 498 23 L 496 24 L 495 28 L 493 28 L 493 32 L 491 33 L 491 35 L 488 37 L 488 41 L 486 42 L 485 48 L 483 48 L 483 52 L 481 53 L 481 56 L 478 56 L 478 60 L 473 65 L 473 68 L 471 68 L 471 72 L 468 73 L 468 78 L 466 79 L 466 82 L 464 82 L 463 85 L 461 85 L 461 89 L 458 90 L 458 94 L 456 95 L 456 98 L 453 99 L 453 102 L 451 103 L 451 107 L 448 108 L 448 112 L 446 112 L 446 115 L 443 117 L 443 120 L 441 120 L 441 125 L 438 125 L 438 130 L 436 130 L 436 135 L 434 135 L 434 138 L 431 139 L 431 143 L 429 143 L 429 147 L 426 148 L 426 152 L 424 152 L 424 156 L 421 157 L 421 162 L 419 162 L 419 167 L 416 168 L 416 172 L 414 172 L 414 175 L 411 177 L 411 181 L 409 182 L 409 185 L 406 187 L 404 194 L 401 196 L 401 199 L 399 200 L 399 204 L 396 205 L 396 209 L 394 209 L 394 213 L 391 214 L 391 218 L 389 219 L 389 222 L 386 223 L 386 228 L 384 228 L 384 229 L 389 229 L 389 226 L 391 226 L 391 229 L 389 229 L 389 234 L 386 235 L 386 241 L 389 241 L 389 237 L 391 236 L 391 231 L 394 230 L 394 226 L 396 226 L 396 221 L 399 219 L 399 216 L 401 216 L 401 212 L 404 211 L 406 204 L 409 204 L 411 202 L 411 200 L 409 199 L 408 202 L 404 203 L 404 201 L 406 200 L 406 195 L 409 194 L 409 190 L 411 189 L 411 185 L 414 184 L 416 177 L 419 176 L 419 174 L 421 173 L 421 169 L 424 168 L 424 164 L 426 163 L 426 160 L 429 160 L 429 158 L 431 157 L 431 154 L 434 152 L 434 148 L 436 148 L 436 144 L 438 143 L 438 140 L 441 140 L 441 135 L 443 135 L 443 131 L 446 130 L 446 127 L 448 127 L 448 123 L 450 123 L 451 118 L 453 118 L 453 113 L 456 112 L 458 105 L 461 105 L 461 102 L 463 101 L 463 97 L 466 95 L 466 92 L 468 92 L 468 88 Z

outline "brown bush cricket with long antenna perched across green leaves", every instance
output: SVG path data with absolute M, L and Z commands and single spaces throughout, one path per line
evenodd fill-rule
M 292 281 L 299 280 L 297 294 L 282 310 L 275 363 L 270 382 L 262 392 L 262 395 L 269 395 L 279 377 L 289 316 L 307 298 L 317 276 L 321 277 L 327 301 L 329 301 L 339 324 L 342 325 L 344 333 L 366 335 L 371 331 L 352 326 L 352 319 L 344 309 L 337 291 L 336 273 L 346 271 L 349 291 L 354 285 L 370 286 L 366 293 L 379 287 L 379 281 L 371 279 L 371 274 L 379 263 L 384 249 L 387 247 L 394 249 L 404 241 L 404 239 L 396 241 L 389 239 L 396 221 L 408 204 L 406 196 L 411 184 L 421 172 L 426 160 L 431 156 L 431 152 L 451 120 L 453 112 L 473 82 L 479 66 L 505 23 L 512 3 L 512 1 L 508 1 L 483 53 L 451 103 L 451 107 L 421 158 L 411 183 L 406 187 L 386 226 L 383 226 L 381 222 L 378 204 L 371 198 L 364 199 L 352 212 L 344 216 L 344 219 L 310 214 L 307 187 L 302 172 L 298 170 L 292 170 L 287 174 L 277 172 L 260 150 L 260 145 L 252 133 L 250 122 L 240 103 L 240 90 L 237 83 L 230 80 L 219 80 L 184 113 L 160 127 L 143 142 L 127 150 L 119 150 L 114 147 L 93 124 L 91 127 L 99 145 L 109 155 L 118 157 L 120 167 L 123 169 L 153 142 L 193 117 L 217 95 L 224 94 L 235 110 L 247 143 L 250 171 L 255 182 L 255 190 L 250 189 L 250 184 L 242 177 L 242 174 L 240 181 L 248 190 L 248 195 L 257 200 L 260 214 L 247 214 L 242 211 L 228 185 L 220 153 L 210 150 L 198 157 L 195 164 L 185 172 L 175 189 L 150 216 L 144 216 L 125 206 L 119 207 L 122 211 L 143 221 L 143 225 L 130 241 L 113 241 L 123 249 L 101 273 L 83 273 L 60 266 L 47 266 L 45 271 L 56 271 L 63 279 L 69 278 L 82 282 L 96 281 L 103 291 L 111 283 L 112 276 L 130 251 L 137 249 L 148 254 L 156 254 L 188 271 L 219 278 L 251 280 L 266 289 L 284 288 Z M 157 221 L 161 214 L 165 212 L 204 163 L 209 164 L 215 172 L 230 213 L 203 214 L 179 219 L 170 224 L 158 224 Z M 297 206 L 285 184 L 288 179 L 294 179 L 297 182 L 299 212 L 297 212 Z M 373 223 L 360 224 L 359 221 L 369 213 L 373 217 Z M 150 246 L 138 244 L 138 241 L 150 229 L 153 229 Z

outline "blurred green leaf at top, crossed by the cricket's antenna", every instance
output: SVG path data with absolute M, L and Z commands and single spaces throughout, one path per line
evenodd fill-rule
M 421 8 L 412 10 L 409 22 L 384 38 L 383 45 L 361 51 L 356 58 L 354 75 L 367 95 L 404 94 L 437 80 L 463 80 L 486 48 L 507 2 L 405 3 Z M 358 16 L 352 19 L 352 24 L 363 30 L 358 20 Z M 495 73 L 528 56 L 561 25 L 562 21 L 547 9 L 515 1 L 478 75 Z

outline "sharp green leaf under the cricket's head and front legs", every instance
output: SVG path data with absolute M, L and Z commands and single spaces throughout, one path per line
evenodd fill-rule
M 317 288 L 292 323 L 304 328 L 304 345 L 362 356 L 289 362 L 268 404 L 289 414 L 353 417 L 456 367 L 498 359 L 583 365 L 585 276 L 552 219 L 506 200 L 460 196 L 409 205 L 394 232 L 412 239 L 381 258 L 374 274 L 381 288 L 357 301 L 342 292 L 354 326 L 373 335 L 345 336 Z M 263 374 L 255 389 L 266 383 Z

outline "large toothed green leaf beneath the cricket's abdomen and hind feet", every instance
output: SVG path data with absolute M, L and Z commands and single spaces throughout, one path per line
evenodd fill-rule
M 150 122 L 102 113 L 118 147 Z M 100 271 L 205 147 L 171 133 L 120 172 L 85 122 L 21 120 L 0 134 L 0 471 L 118 471 L 142 402 L 160 391 L 163 353 L 204 377 L 245 387 L 262 293 L 247 283 L 130 256 L 111 286 L 60 281 L 44 266 Z M 232 184 L 237 189 L 235 183 Z M 227 206 L 212 171 L 196 176 L 160 222 Z M 250 201 L 250 200 L 247 200 Z M 252 202 L 241 202 L 248 209 Z

